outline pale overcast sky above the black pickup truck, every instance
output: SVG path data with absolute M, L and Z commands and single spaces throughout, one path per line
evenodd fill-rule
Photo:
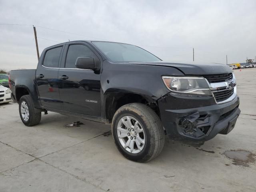
M 255 0 L 0 0 L 0 24 L 37 26 L 40 54 L 58 42 L 102 39 L 166 61 L 192 61 L 193 48 L 198 62 L 256 55 Z M 0 68 L 36 68 L 32 26 L 0 25 L 0 45 Z

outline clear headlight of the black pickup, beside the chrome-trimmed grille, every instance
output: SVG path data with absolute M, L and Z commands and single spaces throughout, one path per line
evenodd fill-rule
M 162 76 L 166 87 L 179 93 L 212 95 L 208 82 L 202 77 Z

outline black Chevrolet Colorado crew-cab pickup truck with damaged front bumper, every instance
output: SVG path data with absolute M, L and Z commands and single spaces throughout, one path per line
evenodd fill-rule
M 47 111 L 112 124 L 118 150 L 138 162 L 161 152 L 165 134 L 204 142 L 228 134 L 240 114 L 229 66 L 164 62 L 123 43 L 54 45 L 36 70 L 13 70 L 9 81 L 26 126 Z

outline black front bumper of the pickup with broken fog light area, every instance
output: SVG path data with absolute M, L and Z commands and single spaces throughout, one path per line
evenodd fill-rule
M 195 106 L 199 107 L 195 107 Z M 240 114 L 239 97 L 224 104 L 213 98 L 184 98 L 172 94 L 158 100 L 162 124 L 171 138 L 207 141 L 228 134 Z

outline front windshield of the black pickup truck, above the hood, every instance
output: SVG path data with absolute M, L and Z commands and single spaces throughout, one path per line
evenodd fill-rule
M 113 62 L 154 62 L 159 58 L 134 45 L 114 42 L 92 42 Z

